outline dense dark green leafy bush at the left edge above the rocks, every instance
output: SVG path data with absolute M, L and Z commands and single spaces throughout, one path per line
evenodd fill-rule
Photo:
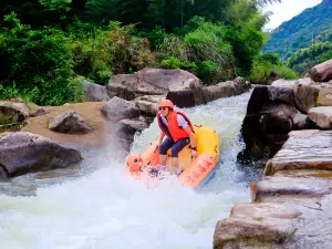
M 8 87 L 15 82 L 19 92 L 39 89 L 33 101 L 40 105 L 63 104 L 77 95 L 73 76 L 69 38 L 61 30 L 31 30 L 17 19 L 6 15 L 12 29 L 0 34 L 0 81 Z M 60 93 L 63 93 L 61 95 Z M 76 98 L 76 97 L 74 97 Z

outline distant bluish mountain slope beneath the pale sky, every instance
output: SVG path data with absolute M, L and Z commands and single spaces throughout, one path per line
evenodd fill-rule
M 322 32 L 332 32 L 332 0 L 323 0 L 283 22 L 271 33 L 263 52 L 277 52 L 286 59 L 291 52 L 311 45 Z M 331 41 L 331 35 L 325 38 Z

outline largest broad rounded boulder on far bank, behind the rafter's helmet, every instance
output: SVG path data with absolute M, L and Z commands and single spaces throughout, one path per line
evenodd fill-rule
M 190 105 L 204 103 L 199 79 L 184 70 L 146 68 L 134 74 L 118 74 L 110 80 L 106 89 L 111 97 L 118 96 L 127 101 L 143 95 L 166 95 L 173 92 L 174 100 L 172 96 L 169 100 L 179 107 L 185 106 L 183 102 L 177 103 L 176 96 L 181 96 L 183 92 L 189 91 L 191 93 Z

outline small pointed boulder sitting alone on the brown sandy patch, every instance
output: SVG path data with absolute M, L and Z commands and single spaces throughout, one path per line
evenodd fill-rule
M 52 117 L 49 122 L 49 128 L 53 132 L 69 134 L 87 134 L 93 132 L 79 113 L 70 110 Z

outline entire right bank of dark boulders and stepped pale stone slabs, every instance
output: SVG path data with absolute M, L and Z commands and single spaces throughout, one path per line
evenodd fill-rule
M 218 221 L 215 249 L 332 248 L 332 60 L 307 76 L 252 91 L 247 149 L 266 146 L 273 156 L 250 186 L 251 203 Z

